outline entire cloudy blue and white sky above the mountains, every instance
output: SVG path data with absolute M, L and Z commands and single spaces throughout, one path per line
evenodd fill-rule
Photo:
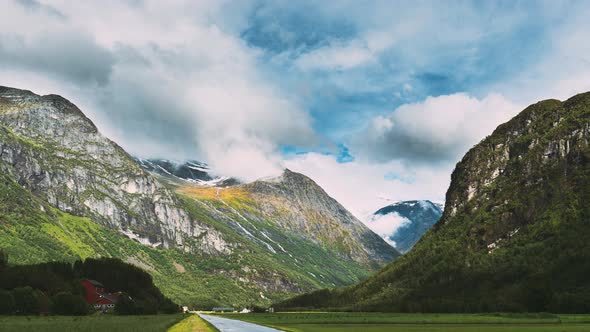
M 588 1 L 0 0 L 0 85 L 139 157 L 285 167 L 357 217 L 444 201 L 461 157 L 590 90 Z

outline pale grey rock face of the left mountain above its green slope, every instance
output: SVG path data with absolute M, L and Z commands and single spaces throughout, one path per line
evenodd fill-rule
M 223 241 L 209 241 L 222 236 L 192 220 L 174 193 L 100 134 L 72 103 L 5 87 L 0 98 L 3 171 L 35 195 L 152 246 L 184 247 L 187 238 L 198 238 L 195 248 L 185 249 L 230 250 Z

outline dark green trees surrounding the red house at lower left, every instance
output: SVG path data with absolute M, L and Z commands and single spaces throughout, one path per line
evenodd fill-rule
M 0 314 L 86 315 L 95 310 L 84 300 L 84 279 L 100 281 L 107 292 L 122 292 L 115 305 L 121 315 L 174 313 L 179 307 L 140 268 L 114 258 L 76 262 L 8 264 L 0 250 Z

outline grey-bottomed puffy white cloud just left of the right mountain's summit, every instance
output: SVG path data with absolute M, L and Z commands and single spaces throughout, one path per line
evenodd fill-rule
M 375 117 L 354 146 L 379 162 L 456 161 L 518 111 L 520 107 L 498 94 L 482 99 L 464 93 L 428 97 Z

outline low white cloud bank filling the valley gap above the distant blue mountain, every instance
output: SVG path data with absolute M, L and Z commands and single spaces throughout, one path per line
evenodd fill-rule
M 320 153 L 291 156 L 283 165 L 309 176 L 363 221 L 390 201 L 444 201 L 454 167 L 454 163 L 408 166 L 398 161 L 373 163 L 362 158 L 339 163 L 337 156 Z

